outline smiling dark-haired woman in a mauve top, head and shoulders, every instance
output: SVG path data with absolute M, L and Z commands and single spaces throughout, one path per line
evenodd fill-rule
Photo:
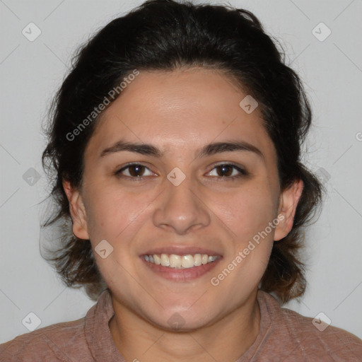
M 148 1 L 100 30 L 43 153 L 52 262 L 98 302 L 1 361 L 361 361 L 358 337 L 281 308 L 305 291 L 298 248 L 322 198 L 300 162 L 310 122 L 248 11 Z

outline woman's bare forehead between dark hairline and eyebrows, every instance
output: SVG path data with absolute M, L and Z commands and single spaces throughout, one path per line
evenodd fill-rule
M 140 71 L 103 112 L 88 148 L 99 151 L 121 138 L 164 151 L 230 138 L 272 148 L 259 107 L 250 114 L 240 107 L 246 96 L 220 71 Z

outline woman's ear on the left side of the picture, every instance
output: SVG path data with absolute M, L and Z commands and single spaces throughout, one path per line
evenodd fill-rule
M 88 240 L 86 208 L 84 207 L 81 193 L 78 189 L 71 187 L 69 181 L 63 181 L 63 188 L 69 201 L 69 210 L 71 212 L 71 220 L 73 221 L 73 233 L 80 239 Z

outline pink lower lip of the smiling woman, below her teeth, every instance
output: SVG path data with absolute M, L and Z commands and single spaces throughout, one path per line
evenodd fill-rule
M 141 257 L 141 260 L 146 264 L 146 267 L 151 269 L 151 271 L 158 274 L 159 276 L 162 276 L 165 279 L 172 281 L 189 281 L 192 279 L 197 279 L 200 276 L 206 274 L 208 271 L 211 271 L 211 269 L 214 269 L 214 267 L 216 267 L 216 264 L 218 264 L 221 259 L 222 257 L 216 259 L 214 262 L 202 264 L 199 267 L 175 269 L 147 262 L 143 257 Z

